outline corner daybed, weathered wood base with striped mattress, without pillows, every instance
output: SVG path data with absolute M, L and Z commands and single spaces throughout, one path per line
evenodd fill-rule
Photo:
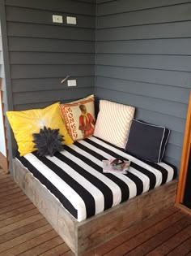
M 103 173 L 108 158 L 129 159 L 128 174 Z M 13 166 L 15 181 L 76 255 L 175 202 L 173 167 L 134 158 L 96 137 L 53 158 L 18 154 Z

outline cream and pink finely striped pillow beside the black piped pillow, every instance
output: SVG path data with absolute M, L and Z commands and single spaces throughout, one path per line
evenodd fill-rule
M 113 145 L 125 148 L 134 111 L 134 106 L 100 100 L 100 111 L 94 135 Z

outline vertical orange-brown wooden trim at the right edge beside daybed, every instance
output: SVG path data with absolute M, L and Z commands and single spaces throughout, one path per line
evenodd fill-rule
M 185 139 L 183 144 L 181 163 L 180 163 L 180 176 L 177 189 L 176 203 L 183 202 L 185 194 L 185 182 L 189 166 L 189 154 L 191 145 L 191 92 L 189 93 L 189 109 L 185 125 Z

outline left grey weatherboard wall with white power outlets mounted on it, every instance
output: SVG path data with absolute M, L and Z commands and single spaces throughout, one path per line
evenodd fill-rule
M 6 0 L 5 6 L 15 111 L 94 92 L 96 1 Z M 52 15 L 64 23 L 53 23 Z M 66 24 L 66 15 L 77 17 L 77 25 Z M 60 85 L 65 76 L 77 79 L 77 87 Z

